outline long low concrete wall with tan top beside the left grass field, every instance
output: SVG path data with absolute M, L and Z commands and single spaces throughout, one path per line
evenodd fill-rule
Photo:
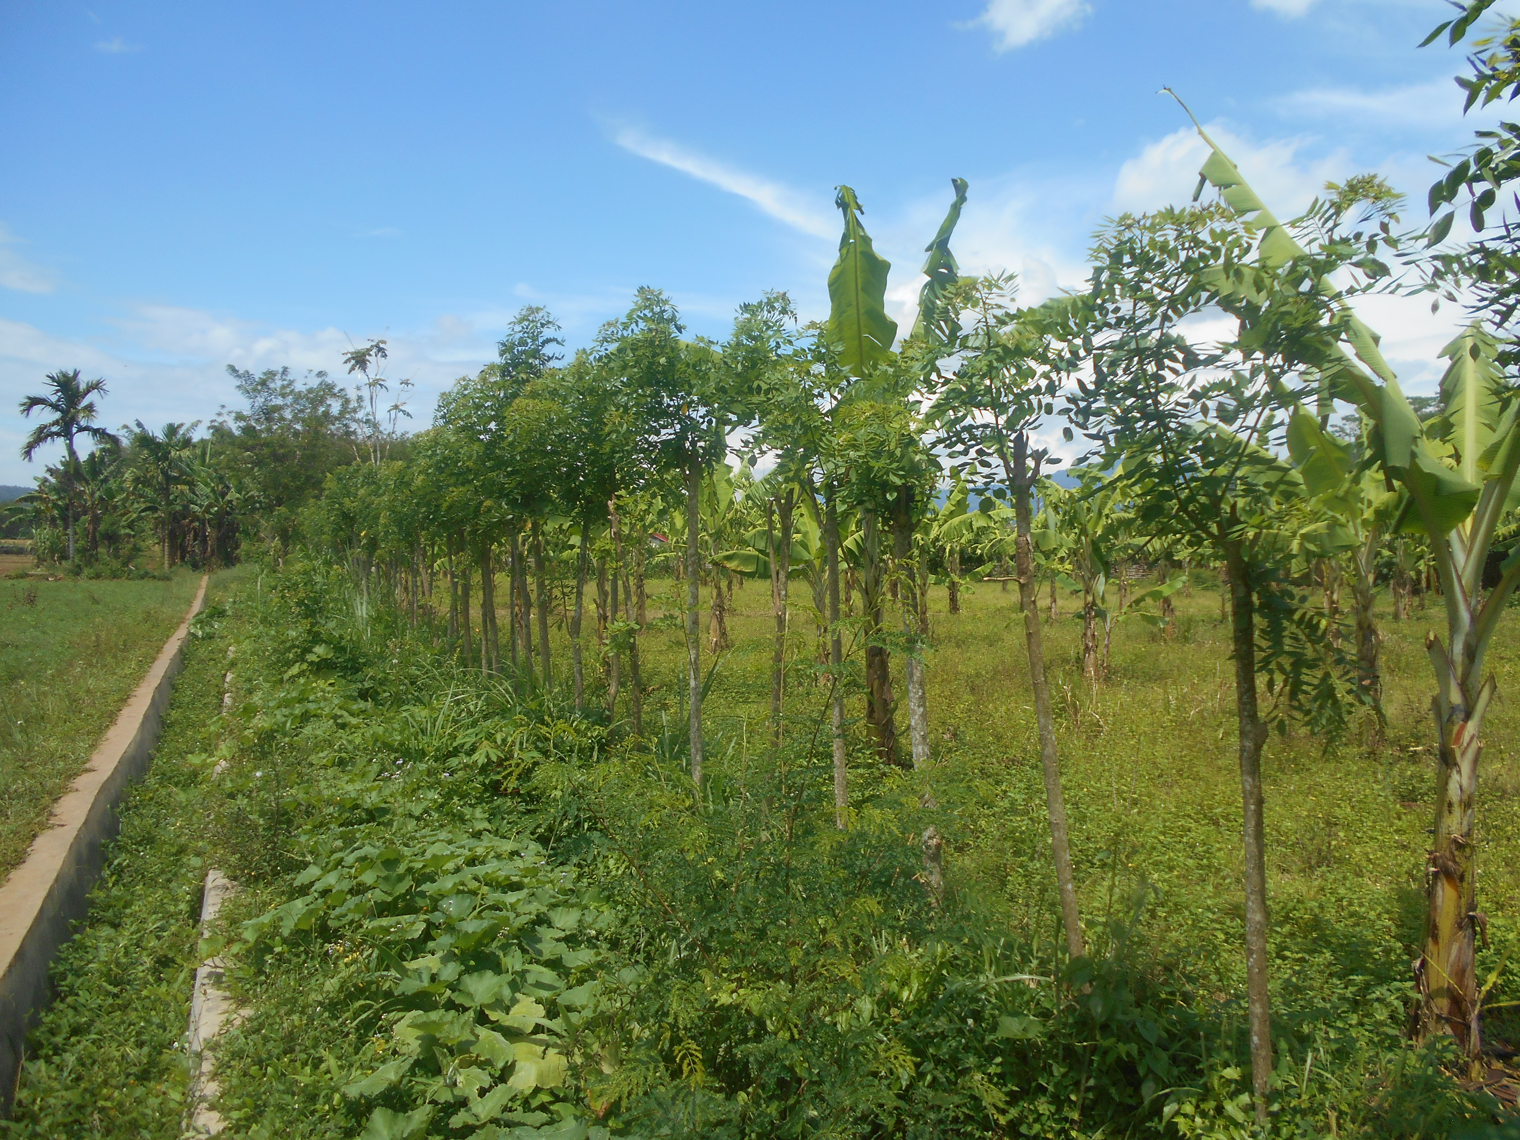
M 26 1032 L 47 1005 L 47 967 L 85 917 L 100 876 L 103 845 L 119 828 L 117 806 L 147 771 L 190 620 L 205 603 L 208 578 L 152 669 L 132 692 L 84 772 L 53 804 L 26 860 L 0 885 L 0 1114 L 9 1114 L 21 1073 Z

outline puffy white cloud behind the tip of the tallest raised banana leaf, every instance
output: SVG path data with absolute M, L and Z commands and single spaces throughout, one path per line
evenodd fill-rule
M 1301 138 L 1256 143 L 1219 123 L 1210 123 L 1205 129 L 1278 217 L 1292 217 L 1309 205 L 1327 181 L 1345 178 L 1357 169 L 1344 149 L 1301 160 Z M 1119 169 L 1111 208 L 1140 213 L 1186 204 L 1193 196 L 1198 167 L 1207 155 L 1208 146 L 1190 126 L 1148 144 Z

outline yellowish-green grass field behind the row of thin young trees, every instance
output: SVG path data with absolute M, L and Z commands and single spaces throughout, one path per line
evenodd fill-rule
M 944 765 L 952 889 L 993 892 L 1014 929 L 1055 939 L 1044 784 L 1017 599 L 1017 588 L 982 584 L 962 597 L 964 613 L 950 616 L 944 590 L 932 590 L 930 740 Z M 1108 942 L 1110 920 L 1125 917 L 1143 889 L 1140 921 L 1151 953 L 1236 1003 L 1243 1002 L 1245 920 L 1230 628 L 1219 619 L 1216 590 L 1199 585 L 1175 600 L 1173 637 L 1138 622 L 1114 631 L 1110 676 L 1097 686 L 1082 676 L 1079 597 L 1062 596 L 1058 620 L 1043 625 L 1072 854 L 1088 939 L 1097 948 Z M 765 733 L 769 710 L 768 585 L 737 590 L 734 606 L 734 651 L 705 716 L 727 737 L 752 740 Z M 897 620 L 888 616 L 889 623 Z M 1426 830 L 1435 818 L 1433 682 L 1423 643 L 1427 631 L 1444 634 L 1439 599 L 1430 597 L 1406 622 L 1392 622 L 1385 605 L 1379 628 L 1386 742 L 1370 746 L 1353 733 L 1327 746 L 1284 725 L 1287 736 L 1274 733 L 1263 760 L 1274 985 L 1283 1008 L 1298 1008 L 1306 1024 L 1348 1000 L 1354 990 L 1347 990 L 1348 977 L 1376 976 L 1400 988 L 1418 953 Z M 812 652 L 812 616 L 793 611 L 790 733 L 812 733 L 816 717 L 827 714 L 825 693 L 806 672 Z M 682 654 L 679 629 L 646 638 L 646 673 L 661 695 L 670 695 Z M 1509 947 L 1520 950 L 1517 660 L 1520 608 L 1506 616 L 1490 654 L 1499 692 L 1508 696 L 1485 722 L 1479 789 L 1479 907 L 1490 923 L 1488 968 Z M 894 686 L 906 749 L 900 660 Z M 847 714 L 860 717 L 862 704 L 851 699 Z M 862 757 L 862 745 L 853 757 Z M 1520 997 L 1520 985 L 1505 979 L 1499 990 Z

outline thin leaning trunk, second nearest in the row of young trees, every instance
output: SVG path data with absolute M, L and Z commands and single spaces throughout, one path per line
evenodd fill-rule
M 1072 847 L 1067 836 L 1066 796 L 1061 792 L 1061 758 L 1055 746 L 1055 716 L 1050 711 L 1050 681 L 1046 678 L 1044 640 L 1040 632 L 1040 584 L 1035 581 L 1034 540 L 1031 538 L 1029 488 L 1038 470 L 1029 470 L 1029 439 L 1014 436 L 1014 465 L 1008 482 L 1014 489 L 1014 564 L 1018 573 L 1018 603 L 1024 614 L 1024 652 L 1029 657 L 1029 686 L 1035 696 L 1035 727 L 1040 733 L 1040 769 L 1046 784 L 1046 813 L 1050 816 L 1050 853 L 1055 857 L 1055 886 L 1061 898 L 1061 926 L 1066 950 L 1082 958 L 1082 917 L 1076 906 L 1076 876 L 1072 871 Z M 1053 584 L 1052 584 L 1053 590 Z

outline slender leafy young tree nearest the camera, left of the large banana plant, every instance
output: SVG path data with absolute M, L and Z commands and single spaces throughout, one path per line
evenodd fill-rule
M 1207 170 L 1208 167 L 1205 167 Z M 1228 193 L 1228 192 L 1227 192 Z M 1251 1075 L 1266 1119 L 1272 1073 L 1268 999 L 1268 898 L 1262 749 L 1268 720 L 1259 678 L 1277 708 L 1316 731 L 1339 731 L 1356 686 L 1324 638 L 1324 619 L 1281 572 L 1304 518 L 1298 471 L 1278 458 L 1292 354 L 1316 316 L 1304 281 L 1321 266 L 1263 264 L 1274 234 L 1242 225 L 1231 207 L 1123 216 L 1099 237 L 1088 293 L 1075 310 L 1073 344 L 1090 353 L 1069 415 L 1100 442 L 1102 470 L 1148 532 L 1210 549 L 1230 573 L 1246 901 Z M 1230 306 L 1234 337 L 1195 347 L 1180 325 Z

